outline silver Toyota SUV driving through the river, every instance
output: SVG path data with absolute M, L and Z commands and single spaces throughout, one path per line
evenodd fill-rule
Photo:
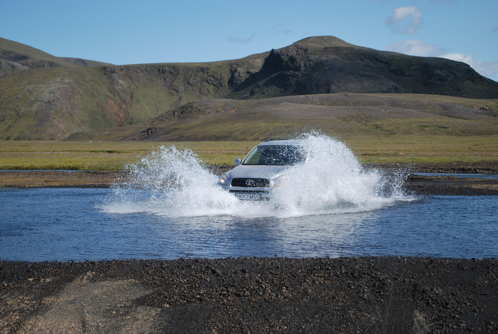
M 284 182 L 282 172 L 304 160 L 299 141 L 268 139 L 254 147 L 244 160 L 235 159 L 237 166 L 223 174 L 218 184 L 240 200 L 267 201 L 273 187 Z

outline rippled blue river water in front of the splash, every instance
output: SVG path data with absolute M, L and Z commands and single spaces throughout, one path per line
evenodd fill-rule
M 435 196 L 359 213 L 244 218 L 109 213 L 103 209 L 107 194 L 116 196 L 109 189 L 0 190 L 0 257 L 498 257 L 497 196 Z

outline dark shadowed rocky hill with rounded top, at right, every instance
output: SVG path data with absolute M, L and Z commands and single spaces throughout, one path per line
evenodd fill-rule
M 314 38 L 315 42 L 320 39 Z M 239 84 L 235 95 L 258 98 L 354 92 L 498 98 L 498 83 L 462 62 L 306 41 L 271 50 L 261 70 Z

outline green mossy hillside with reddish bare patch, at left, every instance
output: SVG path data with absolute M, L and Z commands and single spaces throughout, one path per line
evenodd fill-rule
M 73 132 L 142 122 L 231 94 L 238 73 L 265 55 L 213 63 L 56 67 L 0 78 L 0 139 L 60 140 Z

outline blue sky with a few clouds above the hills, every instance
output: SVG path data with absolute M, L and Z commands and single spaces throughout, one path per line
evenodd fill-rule
M 316 35 L 464 61 L 498 81 L 498 0 L 0 0 L 0 36 L 117 65 L 242 58 Z

